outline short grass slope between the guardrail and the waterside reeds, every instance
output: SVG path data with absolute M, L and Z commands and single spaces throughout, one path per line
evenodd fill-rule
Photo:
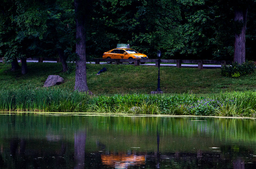
M 0 63 L 1 89 L 40 88 L 51 74 L 60 75 L 64 83 L 59 88 L 72 91 L 75 84 L 75 65 L 62 73 L 60 63 L 28 63 L 28 74 L 10 71 L 10 65 Z M 106 72 L 96 75 L 103 67 Z M 158 68 L 134 65 L 87 64 L 87 82 L 96 95 L 145 93 L 157 89 Z M 209 94 L 225 91 L 256 91 L 256 72 L 238 79 L 220 75 L 220 69 L 160 68 L 160 88 L 165 93 Z

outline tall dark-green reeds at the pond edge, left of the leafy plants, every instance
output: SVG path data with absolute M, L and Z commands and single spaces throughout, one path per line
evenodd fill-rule
M 0 90 L 0 110 L 17 112 L 82 112 L 88 109 L 88 96 L 59 88 L 19 88 Z

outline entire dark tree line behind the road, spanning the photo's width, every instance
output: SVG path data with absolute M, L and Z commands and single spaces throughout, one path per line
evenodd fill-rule
M 2 0 L 0 57 L 60 57 L 79 60 L 75 18 L 85 36 L 87 60 L 117 43 L 164 59 L 234 60 L 256 54 L 256 0 Z M 246 43 L 245 43 L 246 40 Z M 83 43 L 85 43 L 83 42 Z M 246 54 L 246 57 L 245 57 Z M 26 65 L 22 65 L 26 73 Z

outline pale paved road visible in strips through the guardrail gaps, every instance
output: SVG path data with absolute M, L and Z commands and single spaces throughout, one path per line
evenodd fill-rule
M 2 62 L 2 60 L 0 60 Z M 20 60 L 18 60 L 20 62 Z M 27 62 L 38 62 L 38 60 L 27 60 Z M 46 61 L 50 63 L 57 63 L 57 61 Z M 95 64 L 95 62 L 87 62 L 87 64 Z M 108 64 L 107 62 L 100 62 L 101 65 Z M 114 64 L 114 63 L 112 63 Z M 128 63 L 122 63 L 124 65 L 128 65 Z M 141 66 L 155 66 L 155 64 L 140 64 Z M 176 66 L 176 64 L 160 64 L 160 66 Z M 181 64 L 181 67 L 198 67 L 197 64 Z M 204 68 L 220 68 L 221 65 L 203 65 Z

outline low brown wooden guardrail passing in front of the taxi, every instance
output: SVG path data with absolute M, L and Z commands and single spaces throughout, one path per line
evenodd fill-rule
M 158 67 L 158 59 L 103 59 L 96 58 L 93 59 L 95 64 L 100 64 L 100 62 L 115 62 L 116 65 L 121 62 L 134 62 L 135 66 L 139 66 L 140 63 L 155 63 L 155 67 Z M 227 60 L 177 60 L 177 59 L 160 59 L 161 63 L 176 63 L 177 68 L 181 68 L 181 64 L 198 64 L 198 69 L 203 69 L 203 64 L 214 64 L 214 65 L 223 65 L 231 64 L 232 61 Z

